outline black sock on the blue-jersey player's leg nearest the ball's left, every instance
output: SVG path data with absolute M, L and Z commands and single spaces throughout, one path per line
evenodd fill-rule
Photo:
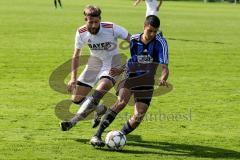
M 95 136 L 101 137 L 103 131 L 112 123 L 116 116 L 117 116 L 116 112 L 112 111 L 111 109 L 108 109 L 103 117 L 103 120 L 100 123 L 100 126 Z

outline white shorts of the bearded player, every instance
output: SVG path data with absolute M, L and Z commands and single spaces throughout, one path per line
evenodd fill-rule
M 109 71 L 112 67 L 120 67 L 120 55 L 110 56 L 108 59 L 100 59 L 95 56 L 90 56 L 85 69 L 78 78 L 78 85 L 94 87 L 94 85 L 102 78 L 107 78 L 112 81 L 113 85 L 118 79 L 118 76 L 112 77 Z

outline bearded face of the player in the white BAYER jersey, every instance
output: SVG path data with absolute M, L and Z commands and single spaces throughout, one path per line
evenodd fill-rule
M 89 17 L 85 18 L 86 27 L 88 32 L 91 34 L 97 34 L 100 29 L 101 19 L 99 17 Z

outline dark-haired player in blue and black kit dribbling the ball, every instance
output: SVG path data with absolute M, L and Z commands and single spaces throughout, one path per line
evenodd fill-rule
M 101 139 L 103 131 L 128 104 L 131 95 L 135 100 L 134 114 L 123 125 L 121 132 L 127 135 L 137 128 L 150 105 L 155 82 L 154 75 L 159 64 L 162 67 L 159 85 L 168 87 L 168 45 L 165 38 L 158 33 L 159 27 L 159 18 L 150 15 L 146 17 L 144 32 L 131 37 L 131 58 L 125 68 L 127 78 L 119 83 L 117 101 L 106 111 L 96 134 L 90 140 L 93 146 L 105 145 Z M 123 68 L 112 68 L 110 75 L 117 76 L 123 71 Z

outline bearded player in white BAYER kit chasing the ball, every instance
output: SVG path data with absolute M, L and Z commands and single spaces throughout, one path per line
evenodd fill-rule
M 71 80 L 68 82 L 68 90 L 72 93 L 72 101 L 81 105 L 77 114 L 70 121 L 60 123 L 62 131 L 71 129 L 78 121 L 85 119 L 95 111 L 96 117 L 93 127 L 99 124 L 100 116 L 106 111 L 102 105 L 98 106 L 103 96 L 114 86 L 117 76 L 109 75 L 112 67 L 121 67 L 121 59 L 118 52 L 117 39 L 121 38 L 130 42 L 131 35 L 126 29 L 114 23 L 101 22 L 101 9 L 96 6 L 87 6 L 84 9 L 85 25 L 76 32 L 75 50 L 72 58 Z M 81 49 L 87 44 L 90 49 L 88 63 L 77 78 L 77 68 Z M 96 86 L 94 93 L 86 96 Z

